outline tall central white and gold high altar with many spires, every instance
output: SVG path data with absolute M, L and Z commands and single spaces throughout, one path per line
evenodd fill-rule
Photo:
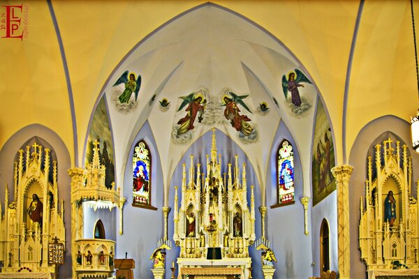
M 228 163 L 228 174 L 221 174 L 221 155 L 217 158 L 214 129 L 211 155 L 206 157 L 207 171 L 201 173 L 200 163 L 194 167 L 191 156 L 189 179 L 186 179 L 186 165 L 183 165 L 180 208 L 175 187 L 173 240 L 180 246 L 179 274 L 184 273 L 183 269 L 191 268 L 239 267 L 241 278 L 249 278 L 249 246 L 256 236 L 253 186 L 250 189 L 247 186 L 246 165 L 243 163 L 240 172 L 235 156 L 233 170 L 232 164 Z M 248 190 L 251 191 L 250 207 Z M 222 259 L 207 259 L 208 250 L 221 251 Z M 210 258 L 214 257 L 210 255 Z

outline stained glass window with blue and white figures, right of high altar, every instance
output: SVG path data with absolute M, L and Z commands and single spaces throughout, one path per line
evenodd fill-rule
M 277 153 L 278 204 L 293 204 L 294 199 L 294 154 L 293 146 L 283 140 Z

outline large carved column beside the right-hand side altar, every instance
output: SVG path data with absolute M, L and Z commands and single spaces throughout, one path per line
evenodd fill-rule
M 350 246 L 349 246 L 349 179 L 353 167 L 340 165 L 332 168 L 337 187 L 337 256 L 339 278 L 350 277 Z

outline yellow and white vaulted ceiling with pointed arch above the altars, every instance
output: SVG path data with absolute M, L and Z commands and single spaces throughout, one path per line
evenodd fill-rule
M 124 164 L 145 121 L 159 152 L 179 157 L 212 128 L 203 121 L 190 142 L 173 140 L 172 128 L 186 113 L 177 112 L 179 97 L 201 89 L 215 104 L 207 121 L 219 123 L 217 128 L 261 165 L 260 154 L 284 121 L 309 166 L 319 96 L 341 164 L 367 123 L 389 114 L 409 121 L 418 108 L 409 1 L 30 1 L 27 6 L 27 38 L 0 38 L 0 149 L 24 126 L 41 123 L 61 137 L 72 164 L 81 165 L 89 121 L 105 94 L 117 165 Z M 300 89 L 311 104 L 302 115 L 291 112 L 281 87 L 282 75 L 294 68 L 313 82 Z M 125 70 L 140 73 L 142 86 L 135 107 L 121 112 L 112 103 L 117 90 L 112 85 Z M 223 117 L 224 89 L 249 95 L 243 101 L 251 112 L 241 109 L 257 127 L 256 143 L 240 141 L 234 128 L 217 120 Z M 162 98 L 170 101 L 166 112 L 159 110 Z M 261 102 L 270 107 L 268 114 L 258 112 Z

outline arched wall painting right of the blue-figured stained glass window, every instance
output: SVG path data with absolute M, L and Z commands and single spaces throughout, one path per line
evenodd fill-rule
M 330 172 L 335 167 L 335 149 L 328 116 L 320 100 L 317 102 L 311 167 L 314 206 L 336 190 L 335 178 Z

